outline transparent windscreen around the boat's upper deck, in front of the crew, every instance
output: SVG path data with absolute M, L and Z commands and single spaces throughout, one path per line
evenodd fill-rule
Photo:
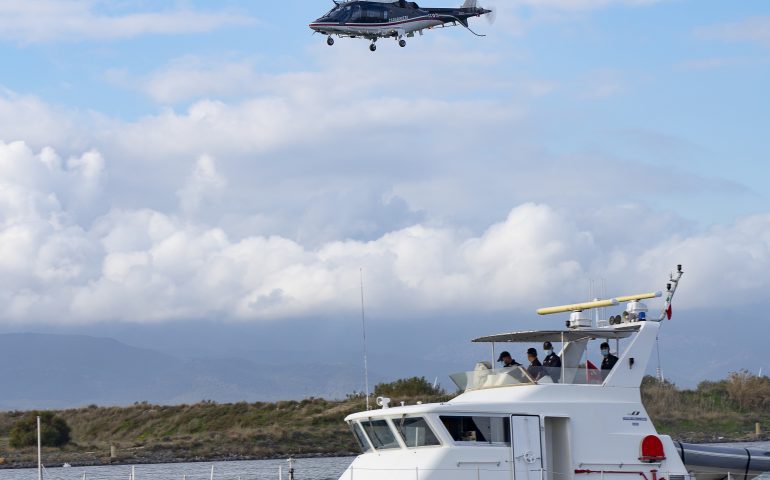
M 475 370 L 454 373 L 449 376 L 461 391 L 484 390 L 488 388 L 511 387 L 516 385 L 552 384 L 601 385 L 608 370 L 590 365 L 574 368 L 551 368 L 523 366 L 486 368 L 479 365 Z

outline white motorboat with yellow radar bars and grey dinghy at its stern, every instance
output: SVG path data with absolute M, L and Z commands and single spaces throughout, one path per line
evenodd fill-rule
M 363 453 L 340 480 L 748 480 L 770 470 L 770 453 L 676 443 L 645 411 L 640 385 L 682 274 L 671 275 L 656 318 L 642 300 L 661 292 L 541 309 L 569 313 L 567 328 L 475 339 L 492 345 L 493 360 L 500 343 L 558 342 L 562 366 L 530 374 L 479 362 L 451 375 L 463 393 L 448 402 L 378 398 L 381 408 L 345 419 Z M 625 302 L 622 315 L 592 315 Z M 602 371 L 587 352 L 604 341 L 618 360 Z

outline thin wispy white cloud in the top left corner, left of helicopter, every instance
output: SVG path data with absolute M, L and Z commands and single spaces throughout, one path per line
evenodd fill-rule
M 144 34 L 197 33 L 251 24 L 250 17 L 190 9 L 102 13 L 94 0 L 0 0 L 0 37 L 20 43 L 115 40 Z

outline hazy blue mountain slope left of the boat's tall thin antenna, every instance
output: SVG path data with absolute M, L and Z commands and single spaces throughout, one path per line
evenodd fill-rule
M 358 366 L 356 366 L 358 367 Z M 85 335 L 0 335 L 0 409 L 344 398 L 360 367 L 183 359 Z

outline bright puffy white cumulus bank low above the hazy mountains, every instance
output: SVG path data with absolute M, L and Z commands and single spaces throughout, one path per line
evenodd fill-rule
M 214 165 L 201 157 L 186 185 L 223 185 Z M 71 197 L 103 168 L 96 152 L 64 162 L 50 149 L 0 145 L 5 318 L 334 315 L 357 308 L 359 268 L 369 279 L 370 307 L 393 317 L 534 308 L 582 298 L 586 279 L 599 276 L 623 291 L 655 288 L 678 262 L 693 273 L 688 290 L 697 292 L 697 300 L 682 295 L 684 306 L 714 305 L 725 295 L 752 301 L 770 287 L 769 215 L 689 235 L 648 224 L 646 240 L 628 248 L 622 240 L 602 243 L 600 221 L 587 229 L 558 209 L 527 203 L 480 234 L 419 223 L 370 241 L 308 247 L 277 235 L 234 238 L 221 227 L 151 209 L 113 208 L 80 226 L 59 198 Z M 607 222 L 615 228 L 612 216 Z

